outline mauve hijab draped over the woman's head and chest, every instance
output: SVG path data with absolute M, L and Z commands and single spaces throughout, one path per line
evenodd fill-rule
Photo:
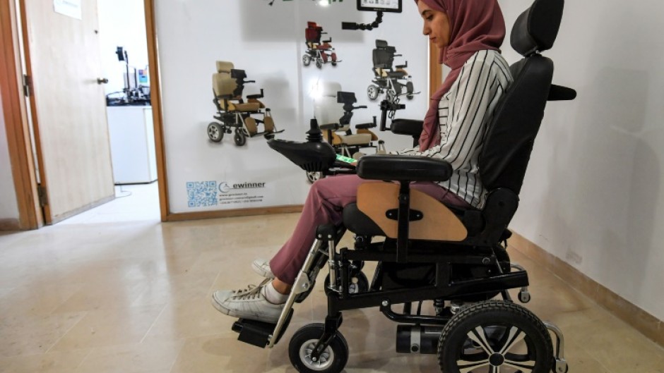
M 452 87 L 461 67 L 475 52 L 486 49 L 499 51 L 505 37 L 505 20 L 497 0 L 415 0 L 447 14 L 450 42 L 441 48 L 440 63 L 451 68 L 443 84 L 431 97 L 420 135 L 420 152 L 439 145 L 438 106 Z

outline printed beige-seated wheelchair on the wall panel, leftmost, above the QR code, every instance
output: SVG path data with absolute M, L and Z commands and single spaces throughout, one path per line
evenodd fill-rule
M 233 140 L 235 145 L 242 146 L 247 137 L 263 135 L 266 139 L 274 137 L 276 130 L 269 108 L 259 99 L 263 98 L 263 89 L 260 94 L 248 94 L 245 102 L 242 94 L 244 85 L 255 80 L 244 80 L 247 73 L 235 69 L 232 62 L 217 61 L 217 72 L 212 75 L 213 103 L 217 114 L 213 116 L 219 122 L 208 124 L 208 138 L 213 142 L 221 142 L 224 134 L 231 134 L 235 130 Z M 259 125 L 263 130 L 259 130 Z

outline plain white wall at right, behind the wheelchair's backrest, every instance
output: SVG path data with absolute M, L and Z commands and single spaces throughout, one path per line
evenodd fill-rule
M 531 1 L 500 3 L 511 27 Z M 579 95 L 547 106 L 512 228 L 664 319 L 664 3 L 624 5 L 566 2 L 545 55 Z

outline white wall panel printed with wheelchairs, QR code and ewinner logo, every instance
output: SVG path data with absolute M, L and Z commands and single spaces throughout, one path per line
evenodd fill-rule
M 260 135 L 271 128 L 266 109 L 270 109 L 274 130 L 283 131 L 276 138 L 304 141 L 320 87 L 338 82 L 341 90 L 355 92 L 356 106 L 367 106 L 353 112 L 351 124 L 372 122 L 374 116 L 379 121 L 381 98 L 372 101 L 367 95 L 367 87 L 376 78 L 373 51 L 377 39 L 396 48 L 402 56 L 396 57 L 395 65 L 408 61 L 405 70 L 412 76 L 415 94 L 412 99 L 401 97 L 406 108 L 396 116 L 420 119 L 427 109 L 428 45 L 412 4 L 404 5 L 401 14 L 386 14 L 380 27 L 372 31 L 342 30 L 344 21 L 371 23 L 375 18 L 375 13 L 358 12 L 353 1 L 329 6 L 287 1 L 269 6 L 267 1 L 167 0 L 155 2 L 155 16 L 173 213 L 302 204 L 310 183 L 302 169 L 274 152 Z M 323 28 L 326 34 L 321 42 L 331 39 L 328 44 L 336 54 L 332 57 L 326 52 L 328 63 L 321 63 L 320 68 L 315 61 L 309 66 L 303 63 L 302 57 L 312 47 L 306 35 L 309 23 Z M 232 62 L 235 71 L 224 75 L 217 61 Z M 244 74 L 242 79 L 238 80 L 238 74 Z M 237 87 L 226 84 L 242 80 L 255 81 L 245 83 L 242 90 L 244 104 L 249 106 L 242 106 L 246 111 L 239 119 L 223 118 L 220 114 L 228 111 L 227 104 L 239 102 L 215 100 L 215 93 L 230 90 L 232 97 L 238 93 Z M 263 97 L 258 99 L 262 105 L 251 105 L 249 97 L 261 94 L 261 89 Z M 419 91 L 423 93 L 416 94 Z M 247 117 L 256 119 L 249 123 L 256 125 L 254 131 L 247 126 Z M 231 122 L 239 124 L 231 126 Z M 222 139 L 213 141 L 208 135 L 210 123 L 225 126 L 223 130 L 230 133 L 225 131 Z M 236 130 L 242 128 L 245 138 L 238 141 Z M 258 135 L 251 136 L 252 132 Z M 387 150 L 412 143 L 410 137 L 374 132 L 385 141 Z M 366 150 L 372 152 L 375 149 Z

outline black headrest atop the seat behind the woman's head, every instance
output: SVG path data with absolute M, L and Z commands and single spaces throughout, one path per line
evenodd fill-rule
M 512 48 L 522 56 L 530 56 L 553 47 L 563 6 L 564 0 L 535 0 L 516 18 L 509 40 Z

